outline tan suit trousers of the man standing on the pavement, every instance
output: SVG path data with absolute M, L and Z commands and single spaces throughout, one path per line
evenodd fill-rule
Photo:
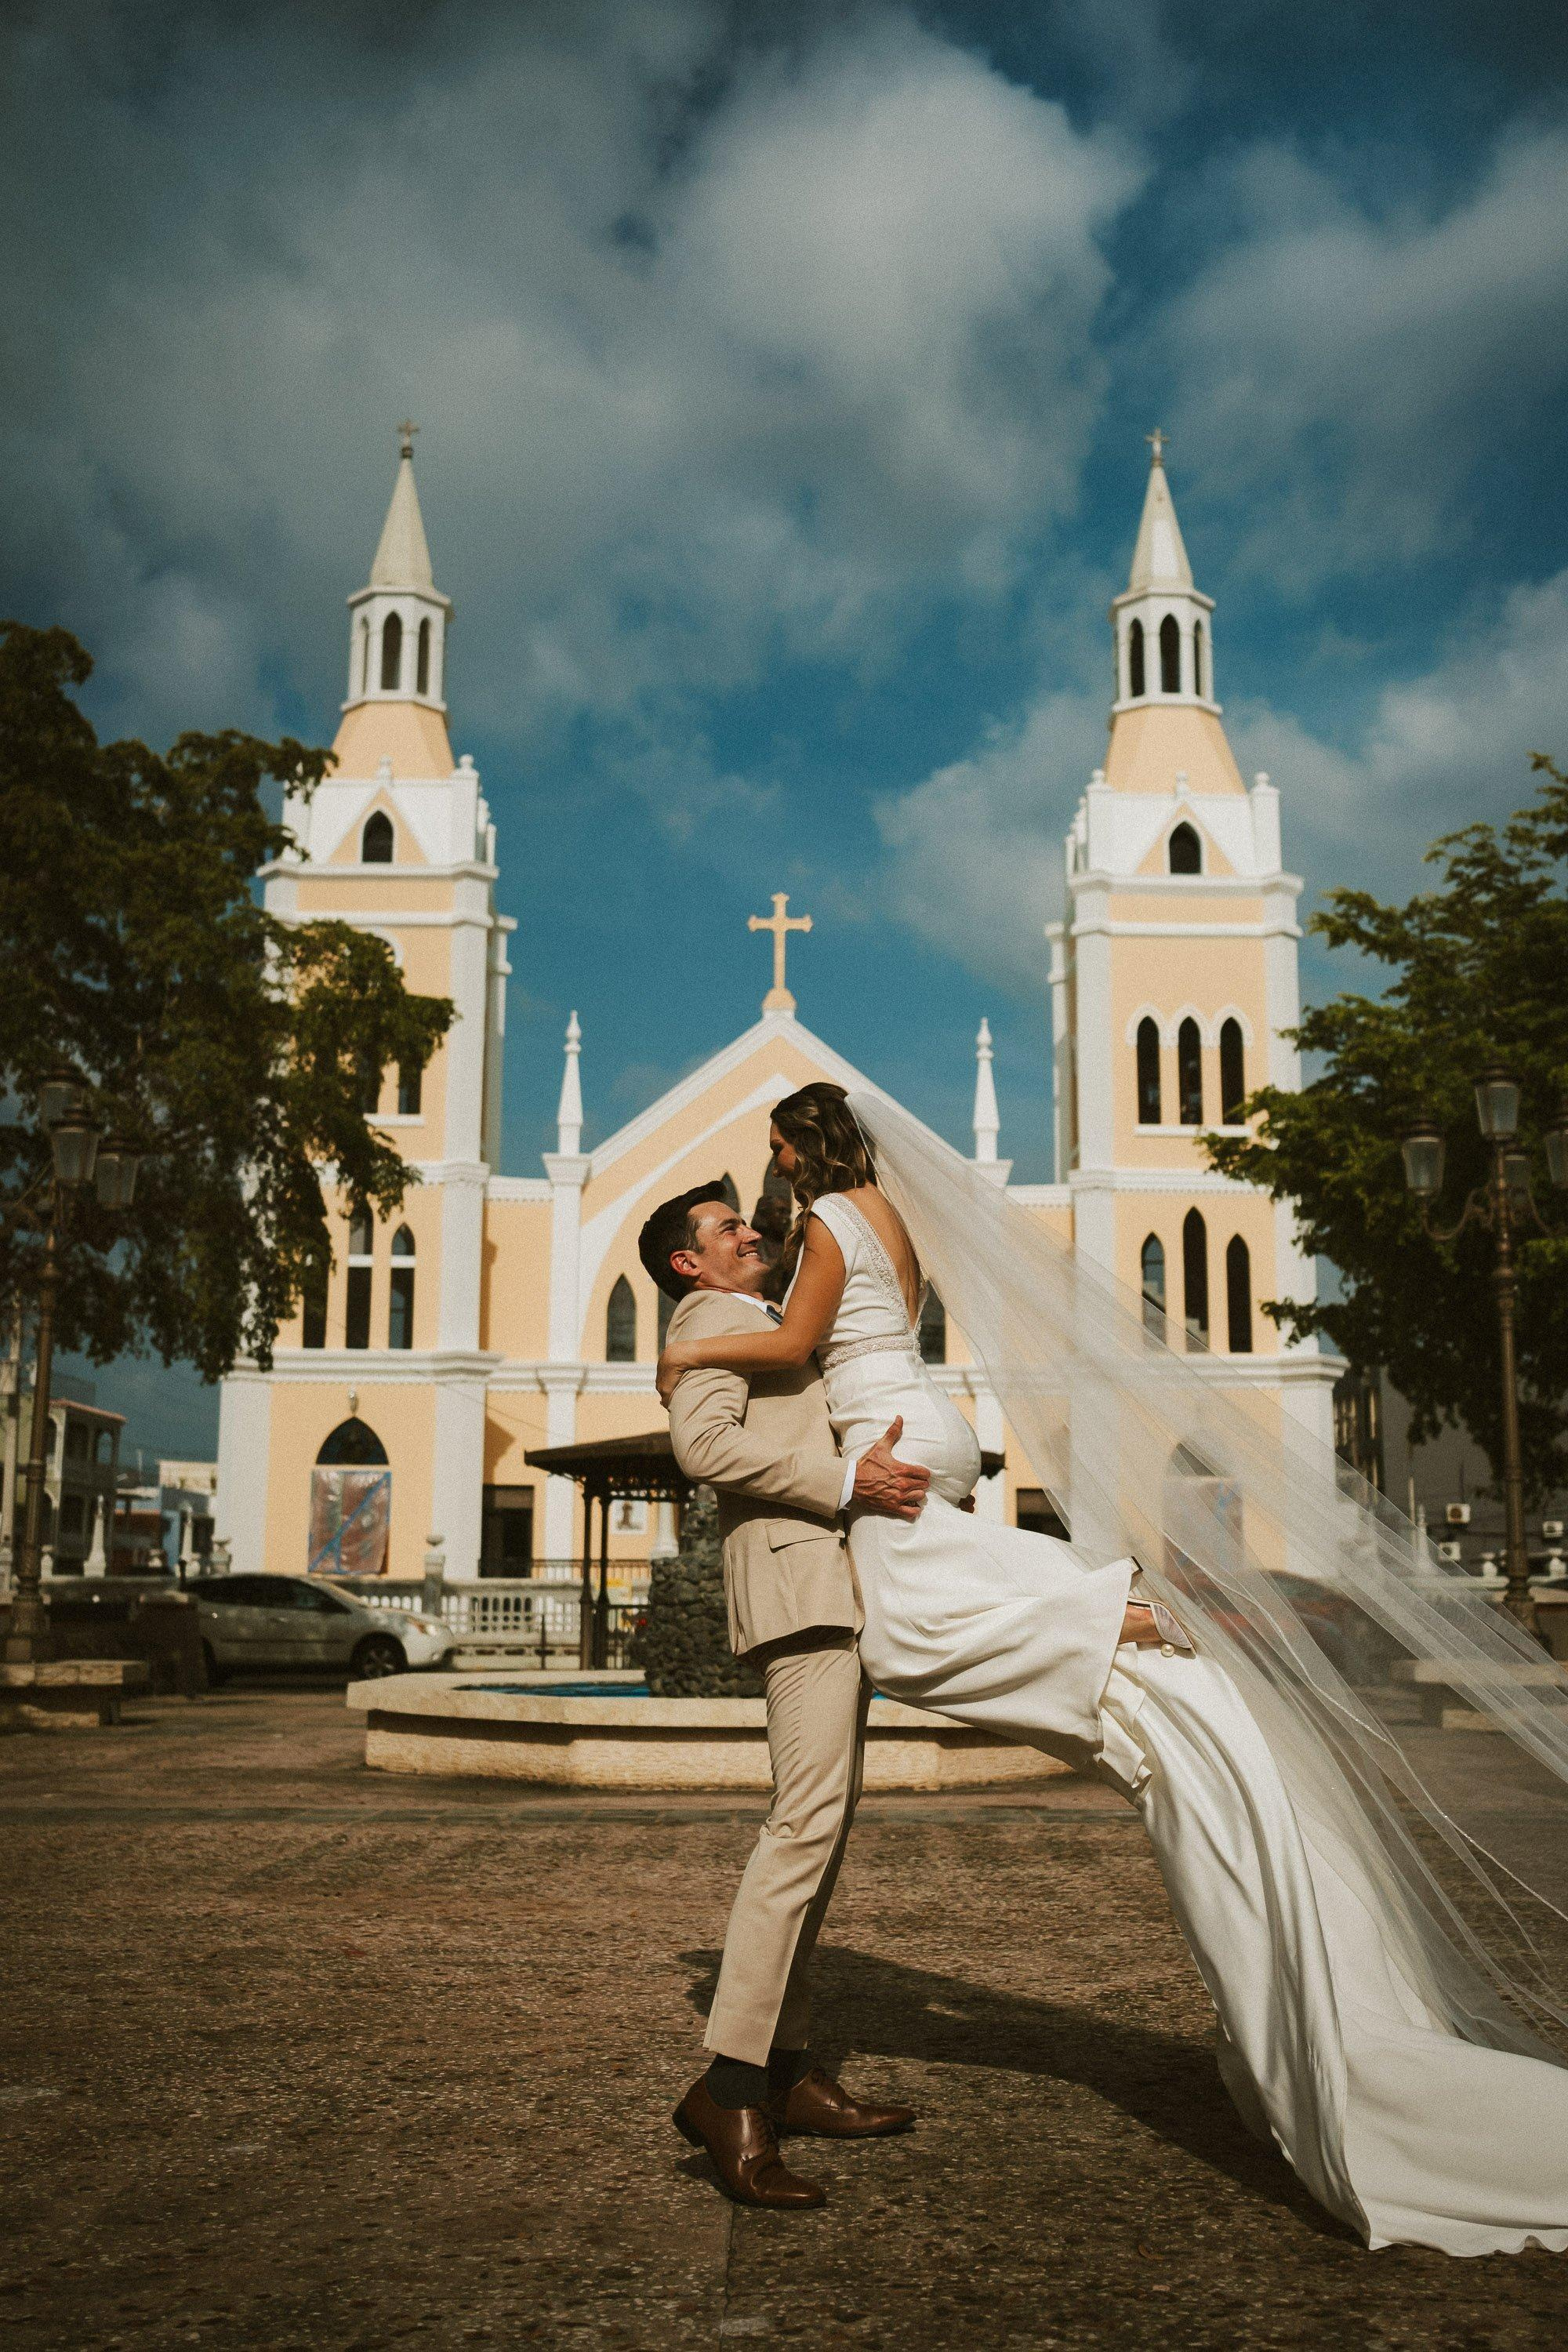
M 755 1653 L 769 1700 L 773 1804 L 724 1931 L 705 2046 L 764 2065 L 806 2049 L 811 1955 L 865 1764 L 870 1684 L 853 1632 L 816 1628 Z

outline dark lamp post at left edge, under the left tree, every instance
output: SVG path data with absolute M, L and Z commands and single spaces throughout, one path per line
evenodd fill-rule
M 38 1089 L 38 1122 L 49 1134 L 47 1209 L 24 1195 L 12 1211 L 45 1237 L 38 1275 L 38 1338 L 33 1352 L 33 1428 L 28 1432 L 28 1489 L 21 1548 L 12 1578 L 12 1613 L 5 1663 L 28 1665 L 49 1656 L 49 1616 L 42 1602 L 45 1486 L 49 1477 L 49 1385 L 54 1376 L 54 1308 L 59 1301 L 61 1249 L 71 1204 L 96 1176 L 103 1209 L 129 1209 L 141 1152 L 122 1136 L 103 1138 L 87 1117 L 85 1089 L 75 1070 L 52 1070 Z M 7 1496 L 7 1510 L 12 1498 Z

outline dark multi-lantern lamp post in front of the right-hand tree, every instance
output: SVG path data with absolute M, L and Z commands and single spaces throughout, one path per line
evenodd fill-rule
M 1401 1150 L 1406 1164 L 1406 1188 L 1420 1202 L 1422 1228 L 1434 1242 L 1453 1242 L 1472 1218 L 1488 1225 L 1497 1256 L 1493 1263 L 1493 1296 L 1497 1301 L 1497 1374 L 1502 1381 L 1502 1524 L 1505 1524 L 1505 1573 L 1507 1592 L 1502 1606 L 1519 1618 L 1526 1632 L 1535 1632 L 1535 1602 L 1530 1599 L 1530 1548 L 1523 1529 L 1523 1449 L 1519 1444 L 1519 1345 L 1516 1345 L 1516 1228 L 1535 1223 L 1542 1232 L 1552 1228 L 1535 1207 L 1530 1192 L 1530 1160 L 1521 1150 L 1509 1150 L 1519 1136 L 1519 1084 L 1507 1070 L 1486 1070 L 1476 1080 L 1476 1124 L 1490 1145 L 1490 1176 L 1465 1202 L 1455 1225 L 1436 1225 L 1432 1204 L 1443 1190 L 1443 1136 L 1434 1120 L 1422 1120 L 1410 1129 Z M 1568 1185 L 1568 1098 L 1559 1124 L 1547 1136 L 1547 1167 L 1554 1185 Z

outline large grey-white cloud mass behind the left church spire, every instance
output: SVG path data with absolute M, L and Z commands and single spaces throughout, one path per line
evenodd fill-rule
M 477 724 L 877 656 L 1009 576 L 1077 496 L 1128 151 L 900 9 L 792 24 L 14 28 L 12 334 L 75 301 L 12 353 L 12 581 L 127 722 L 331 703 L 404 407 Z

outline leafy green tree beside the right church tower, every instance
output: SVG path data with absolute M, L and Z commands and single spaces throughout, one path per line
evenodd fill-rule
M 1300 1094 L 1248 1101 L 1253 1138 L 1206 1136 L 1208 1157 L 1288 1200 L 1302 1244 L 1331 1258 L 1340 1296 L 1269 1301 L 1291 1334 L 1321 1331 L 1363 1371 L 1382 1364 L 1413 1406 L 1413 1435 L 1462 1421 L 1493 1472 L 1502 1465 L 1493 1237 L 1467 1225 L 1432 1242 L 1403 1185 L 1401 1136 L 1422 1112 L 1446 1136 L 1439 1221 L 1453 1223 L 1486 1178 L 1474 1080 L 1505 1063 L 1521 1084 L 1521 1148 L 1542 1207 L 1542 1134 L 1568 1084 L 1568 779 L 1535 755 L 1540 790 L 1505 826 L 1474 823 L 1427 851 L 1439 887 L 1406 906 L 1338 889 L 1312 929 L 1392 974 L 1380 997 L 1338 995 L 1295 1037 L 1321 1056 Z M 1552 1209 L 1547 1209 L 1552 1214 Z M 1526 1486 L 1535 1501 L 1568 1477 L 1568 1242 L 1519 1251 L 1519 1367 Z

